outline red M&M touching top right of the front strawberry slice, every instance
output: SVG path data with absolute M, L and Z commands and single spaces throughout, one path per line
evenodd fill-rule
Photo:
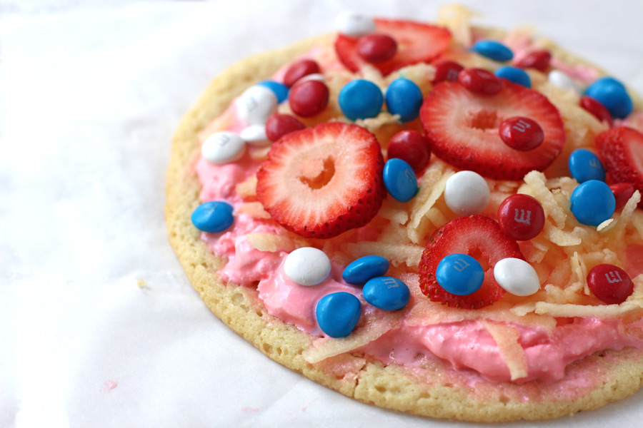
M 498 223 L 515 240 L 535 238 L 544 226 L 542 205 L 529 195 L 511 195 L 498 207 Z

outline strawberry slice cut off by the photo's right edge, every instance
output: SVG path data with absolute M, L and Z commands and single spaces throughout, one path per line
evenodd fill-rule
M 612 180 L 630 183 L 643 193 L 643 134 L 619 126 L 599 133 L 596 146 Z

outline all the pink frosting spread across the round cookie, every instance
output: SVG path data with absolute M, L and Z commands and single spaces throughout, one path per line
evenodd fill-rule
M 524 41 L 517 41 L 527 49 Z M 306 57 L 315 57 L 319 52 L 311 51 Z M 564 64 L 554 66 L 562 68 L 570 76 L 587 81 L 587 71 L 570 69 Z M 280 71 L 283 73 L 283 70 Z M 238 131 L 243 123 L 236 117 L 233 108 L 224 113 L 226 128 Z M 211 127 L 206 131 L 211 133 Z M 199 158 L 195 169 L 203 185 L 201 200 L 228 200 L 236 209 L 243 201 L 236 194 L 238 183 L 254 174 L 259 161 L 252 160 L 247 154 L 240 161 L 226 165 L 212 165 Z M 316 323 L 314 309 L 316 303 L 332 292 L 350 292 L 363 302 L 361 290 L 343 282 L 342 266 L 333 264 L 332 273 L 319 285 L 304 287 L 292 282 L 283 273 L 286 251 L 274 253 L 256 250 L 248 242 L 248 233 L 284 234 L 285 230 L 274 222 L 258 220 L 246 214 L 235 214 L 234 225 L 224 233 L 203 233 L 201 238 L 212 252 L 227 260 L 225 267 L 219 271 L 224 281 L 251 287 L 256 285 L 259 298 L 266 310 L 284 322 L 296 325 L 300 330 L 312 335 L 323 336 Z M 374 240 L 377 231 L 362 228 L 356 234 L 359 240 Z M 643 253 L 643 247 L 632 250 L 628 260 L 634 263 Z M 636 262 L 637 263 L 637 262 Z M 257 285 L 258 284 L 258 285 Z M 372 310 L 363 304 L 362 312 Z M 528 376 L 519 379 L 526 382 L 531 379 L 563 379 L 565 367 L 570 362 L 591 355 L 599 350 L 620 350 L 626 346 L 642 347 L 640 340 L 634 340 L 621 334 L 618 320 L 601 320 L 597 318 L 576 319 L 567 325 L 555 328 L 552 334 L 544 330 L 515 326 L 520 333 L 520 345 L 524 347 L 527 358 Z M 439 357 L 449 361 L 459 370 L 475 370 L 489 379 L 507 381 L 509 369 L 504 362 L 492 336 L 479 321 L 444 322 L 433 325 L 407 325 L 403 320 L 397 329 L 374 340 L 358 351 L 365 352 L 389 364 L 396 362 L 413 367 L 424 357 Z

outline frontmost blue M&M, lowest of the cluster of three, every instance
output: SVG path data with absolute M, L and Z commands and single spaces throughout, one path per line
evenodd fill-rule
M 361 314 L 362 304 L 359 299 L 344 291 L 321 297 L 315 308 L 319 328 L 330 337 L 350 335 Z

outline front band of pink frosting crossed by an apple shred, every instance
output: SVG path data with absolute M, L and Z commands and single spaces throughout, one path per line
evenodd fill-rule
M 624 337 L 619 320 L 578 318 L 557 327 L 553 335 L 544 330 L 515 325 L 519 343 L 527 360 L 527 377 L 559 380 L 569 363 L 592 355 L 598 350 L 621 350 L 627 346 L 642 347 L 640 340 Z M 509 368 L 487 328 L 477 320 L 435 325 L 406 325 L 388 332 L 360 350 L 386 364 L 397 362 L 414 365 L 417 355 L 432 355 L 449 361 L 456 369 L 473 369 L 488 379 L 509 381 Z

